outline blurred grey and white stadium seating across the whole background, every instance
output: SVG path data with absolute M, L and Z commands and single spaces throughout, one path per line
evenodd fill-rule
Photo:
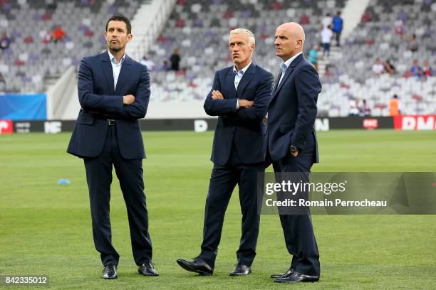
M 345 0 L 177 0 L 165 29 L 147 56 L 152 71 L 152 102 L 203 100 L 212 86 L 214 71 L 231 65 L 227 48 L 229 30 L 248 28 L 256 36 L 254 61 L 279 73 L 280 59 L 274 56 L 276 26 L 286 21 L 304 23 L 308 54 L 320 42 L 323 16 L 342 10 Z M 13 42 L 1 55 L 0 92 L 41 92 L 44 80 L 58 76 L 85 55 L 105 48 L 103 23 L 115 12 L 132 18 L 138 1 L 131 0 L 3 0 L 0 31 Z M 388 114 L 388 100 L 400 97 L 403 112 L 436 113 L 435 77 L 410 77 L 412 60 L 436 63 L 435 0 L 371 0 L 360 24 L 343 46 L 328 59 L 321 74 L 323 92 L 319 114 L 348 116 L 350 101 L 367 100 L 374 116 Z M 31 17 L 29 17 L 31 16 Z M 66 38 L 43 43 L 46 31 L 61 24 Z M 346 25 L 346 24 L 345 24 Z M 38 31 L 37 33 L 35 31 Z M 410 35 L 417 36 L 418 49 L 410 51 Z M 28 38 L 31 37 L 32 39 Z M 175 48 L 180 49 L 182 70 L 162 70 Z M 376 58 L 391 60 L 395 75 L 375 76 Z

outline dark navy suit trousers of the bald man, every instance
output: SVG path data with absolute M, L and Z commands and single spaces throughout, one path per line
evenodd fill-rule
M 310 136 L 307 149 L 301 151 L 297 157 L 291 156 L 291 153 L 289 153 L 283 159 L 273 161 L 276 178 L 278 178 L 277 173 L 280 172 L 299 172 L 306 173 L 299 174 L 299 179 L 301 178 L 303 182 L 309 181 L 308 177 L 313 165 L 313 154 L 315 150 L 313 135 L 310 134 Z M 280 181 L 276 180 L 276 182 Z M 306 194 L 303 193 L 302 195 Z M 280 199 L 279 193 L 277 197 Z M 304 215 L 281 214 L 279 216 L 284 232 L 286 248 L 289 254 L 293 256 L 291 267 L 295 269 L 296 272 L 302 274 L 319 276 L 319 252 L 313 233 L 310 212 L 307 210 L 307 213 Z

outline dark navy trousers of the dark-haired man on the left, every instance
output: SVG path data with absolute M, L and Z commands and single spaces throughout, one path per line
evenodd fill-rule
M 150 262 L 152 259 L 144 181 L 142 180 L 142 159 L 123 159 L 118 149 L 115 130 L 115 126 L 108 127 L 105 145 L 100 156 L 84 159 L 94 244 L 95 249 L 100 252 L 103 265 L 118 264 L 120 256 L 112 245 L 109 217 L 110 183 L 112 183 L 112 166 L 114 166 L 127 207 L 133 257 L 139 265 Z

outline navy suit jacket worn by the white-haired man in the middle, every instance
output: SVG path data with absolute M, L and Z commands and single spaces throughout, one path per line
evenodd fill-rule
M 259 65 L 251 63 L 234 89 L 233 66 L 217 71 L 212 90 L 219 90 L 224 100 L 212 99 L 212 90 L 204 102 L 204 111 L 219 116 L 215 127 L 212 162 L 225 166 L 236 146 L 245 164 L 264 161 L 264 117 L 268 108 L 274 77 Z M 254 101 L 250 108 L 237 109 L 238 99 Z

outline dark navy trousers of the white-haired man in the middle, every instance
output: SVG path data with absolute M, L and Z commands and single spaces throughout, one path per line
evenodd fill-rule
M 242 237 L 237 259 L 239 264 L 251 266 L 253 263 L 259 235 L 258 207 L 261 202 L 256 191 L 257 175 L 263 172 L 263 163 L 242 163 L 234 146 L 226 166 L 214 164 L 204 211 L 202 252 L 199 254 L 199 257 L 212 268 L 221 240 L 224 214 L 236 185 L 239 186 L 239 204 L 242 211 Z

